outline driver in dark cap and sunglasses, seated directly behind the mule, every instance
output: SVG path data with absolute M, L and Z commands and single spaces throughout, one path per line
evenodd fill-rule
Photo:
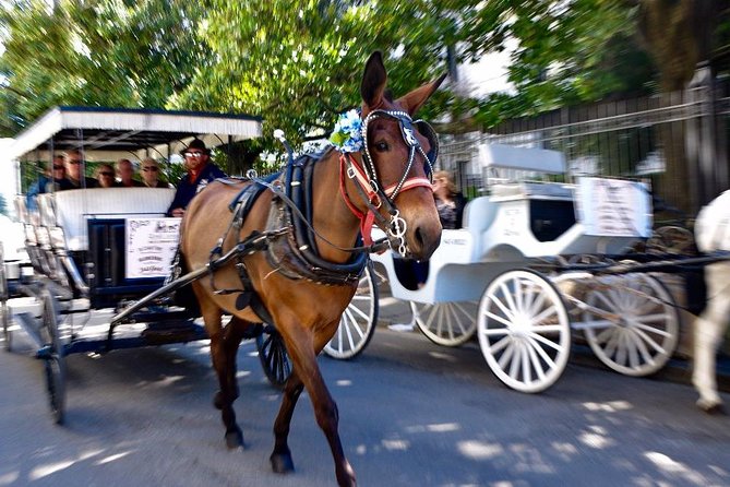
M 180 154 L 186 158 L 188 174 L 178 182 L 175 199 L 167 210 L 168 216 L 184 215 L 190 200 L 195 194 L 201 192 L 208 182 L 226 177 L 223 170 L 210 162 L 211 151 L 205 147 L 205 142 L 202 140 L 193 139 L 188 149 L 180 152 Z

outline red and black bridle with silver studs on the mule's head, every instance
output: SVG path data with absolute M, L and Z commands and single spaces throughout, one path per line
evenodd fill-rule
M 370 122 L 379 118 L 390 118 L 398 122 L 400 128 L 400 135 L 408 146 L 408 162 L 403 171 L 403 175 L 397 182 L 383 188 L 378 168 L 368 147 L 368 127 Z M 414 188 L 427 187 L 431 188 L 433 182 L 433 164 L 439 155 L 439 139 L 433 128 L 424 120 L 412 120 L 410 115 L 400 110 L 373 110 L 362 120 L 361 139 L 363 141 L 360 154 L 362 156 L 362 164 L 351 155 L 351 153 L 343 152 L 340 161 L 340 193 L 350 212 L 360 219 L 360 234 L 366 245 L 372 242 L 370 236 L 372 224 L 378 222 L 378 226 L 386 233 L 388 242 L 392 249 L 397 249 L 402 257 L 408 254 L 408 245 L 406 243 L 407 223 L 400 217 L 400 212 L 395 205 L 395 198 L 405 191 Z M 421 133 L 429 140 L 431 150 L 427 153 L 421 144 L 418 142 L 416 132 Z M 423 156 L 423 169 L 427 177 L 408 177 L 416 153 Z M 363 201 L 367 210 L 360 211 L 347 194 L 345 188 L 345 176 L 352 180 L 360 199 Z M 390 219 L 385 218 L 380 213 L 380 207 L 385 206 L 390 215 Z

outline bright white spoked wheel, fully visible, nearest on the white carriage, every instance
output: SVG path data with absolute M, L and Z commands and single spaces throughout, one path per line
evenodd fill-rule
M 481 353 L 507 387 L 540 392 L 563 373 L 571 323 L 555 286 L 529 270 L 500 274 L 479 304 Z

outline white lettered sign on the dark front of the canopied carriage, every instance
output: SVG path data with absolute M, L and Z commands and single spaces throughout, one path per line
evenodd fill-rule
M 127 218 L 127 278 L 165 277 L 180 240 L 182 218 Z

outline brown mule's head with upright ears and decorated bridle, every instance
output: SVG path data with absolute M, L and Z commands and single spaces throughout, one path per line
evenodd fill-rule
M 362 165 L 380 190 L 378 212 L 384 219 L 379 218 L 379 226 L 397 246 L 394 250 L 419 260 L 431 257 L 439 246 L 441 223 L 431 189 L 438 139 L 433 129 L 414 115 L 444 78 L 393 99 L 385 90 L 383 58 L 374 52 L 360 85 Z

